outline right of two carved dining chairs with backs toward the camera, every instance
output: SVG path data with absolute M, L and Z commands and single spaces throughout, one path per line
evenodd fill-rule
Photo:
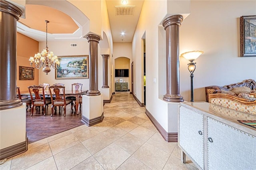
M 57 106 L 59 107 L 59 113 L 60 113 L 60 107 L 64 106 L 64 116 L 66 116 L 66 105 L 71 104 L 71 110 L 73 112 L 73 101 L 71 99 L 66 99 L 65 96 L 65 86 L 62 85 L 52 85 L 49 87 L 50 95 L 51 95 L 51 101 L 52 101 L 52 114 L 53 115 L 53 109 Z M 53 97 L 55 95 L 55 99 Z M 54 109 L 56 112 L 56 109 Z

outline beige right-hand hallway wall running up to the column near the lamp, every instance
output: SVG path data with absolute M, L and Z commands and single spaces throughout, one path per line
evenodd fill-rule
M 154 9 L 154 12 L 152 12 Z M 158 69 L 165 63 L 158 62 L 158 26 L 167 15 L 167 1 L 144 1 L 142 12 L 132 40 L 134 62 L 134 95 L 143 103 L 143 40 L 146 39 L 146 109 L 168 132 L 168 106 L 158 99 Z M 146 36 L 144 36 L 146 35 Z M 164 40 L 165 41 L 165 40 Z M 165 53 L 165 49 L 164 53 Z M 160 66 L 160 64 L 162 64 Z M 156 83 L 154 83 L 156 79 Z M 164 83 L 164 82 L 161 82 Z M 166 84 L 166 83 L 164 83 Z

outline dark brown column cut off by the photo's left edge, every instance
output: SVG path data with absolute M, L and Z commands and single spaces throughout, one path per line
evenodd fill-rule
M 0 110 L 19 107 L 16 96 L 16 22 L 22 10 L 0 0 Z

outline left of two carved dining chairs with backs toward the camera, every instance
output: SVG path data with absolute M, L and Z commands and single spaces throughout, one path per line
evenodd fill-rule
M 31 100 L 32 108 L 31 108 L 30 116 L 33 116 L 34 107 L 37 107 L 37 106 L 39 106 L 39 107 L 42 106 L 42 113 L 44 113 L 44 116 L 45 116 L 46 115 L 46 105 L 48 105 L 51 101 L 45 99 L 44 86 L 31 85 L 31 86 L 28 86 L 28 91 L 29 91 L 30 97 L 32 99 Z M 42 92 L 42 94 L 41 94 L 41 92 Z M 42 98 L 41 98 L 41 95 L 42 95 Z

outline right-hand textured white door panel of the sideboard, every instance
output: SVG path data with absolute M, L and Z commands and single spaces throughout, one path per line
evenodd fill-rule
M 256 169 L 255 136 L 210 117 L 207 117 L 207 135 L 208 169 Z

